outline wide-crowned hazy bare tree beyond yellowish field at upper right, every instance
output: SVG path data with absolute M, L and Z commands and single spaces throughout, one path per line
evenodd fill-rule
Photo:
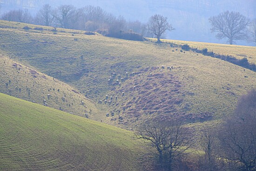
M 218 39 L 228 38 L 229 44 L 234 40 L 243 40 L 247 38 L 246 28 L 249 20 L 238 12 L 226 11 L 217 16 L 209 18 L 211 31 L 217 32 Z

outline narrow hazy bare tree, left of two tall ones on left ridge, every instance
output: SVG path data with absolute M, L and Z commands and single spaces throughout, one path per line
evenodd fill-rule
M 51 25 L 53 22 L 53 10 L 49 4 L 45 4 L 36 14 L 35 22 L 40 25 Z

